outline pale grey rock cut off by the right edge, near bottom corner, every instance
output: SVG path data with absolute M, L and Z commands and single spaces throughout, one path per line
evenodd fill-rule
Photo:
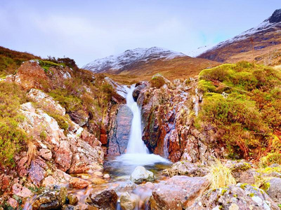
M 273 178 L 267 182 L 266 186 L 269 188 L 266 190 L 269 197 L 277 204 L 281 204 L 281 179 Z

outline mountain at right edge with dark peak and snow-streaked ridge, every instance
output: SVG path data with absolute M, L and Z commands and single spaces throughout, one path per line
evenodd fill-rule
M 281 63 L 281 9 L 275 10 L 257 27 L 218 43 L 198 57 L 217 62 L 255 59 L 263 64 Z

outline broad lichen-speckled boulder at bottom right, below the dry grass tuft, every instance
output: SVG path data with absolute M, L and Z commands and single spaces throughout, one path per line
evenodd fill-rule
M 189 209 L 277 210 L 279 207 L 263 190 L 239 183 L 237 186 L 208 190 L 202 197 L 198 197 L 195 204 Z

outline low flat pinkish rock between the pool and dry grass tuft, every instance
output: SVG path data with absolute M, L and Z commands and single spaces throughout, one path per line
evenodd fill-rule
M 204 165 L 191 163 L 185 160 L 174 163 L 170 169 L 165 169 L 163 173 L 169 176 L 205 176 L 208 170 Z

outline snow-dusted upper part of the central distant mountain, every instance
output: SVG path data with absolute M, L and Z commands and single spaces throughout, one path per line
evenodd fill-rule
M 175 57 L 184 57 L 185 54 L 175 52 L 165 48 L 136 48 L 126 50 L 119 55 L 110 55 L 101 59 L 96 59 L 93 62 L 83 66 L 83 69 L 88 69 L 96 73 L 104 73 L 107 71 L 118 71 L 126 69 L 138 62 L 150 62 L 157 59 L 174 59 Z

